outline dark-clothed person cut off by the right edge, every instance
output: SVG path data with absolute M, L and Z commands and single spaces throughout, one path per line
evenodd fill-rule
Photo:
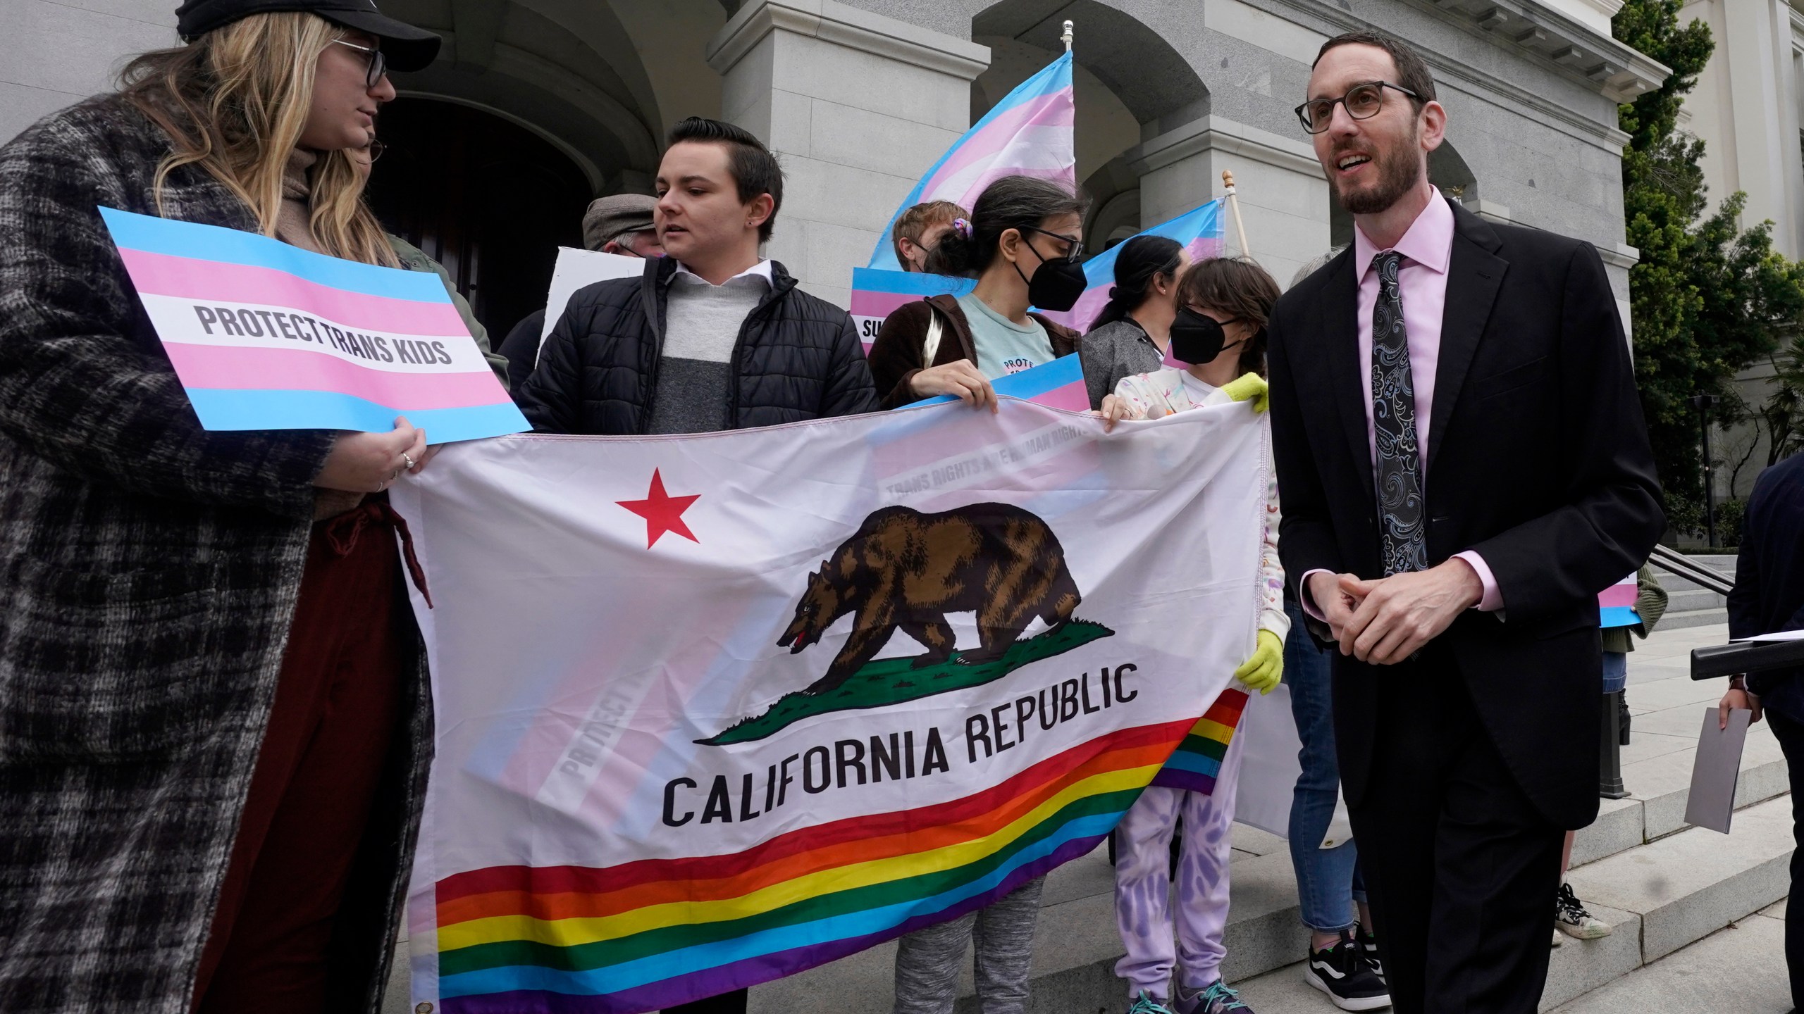
M 1781 630 L 1804 630 L 1804 455 L 1793 455 L 1761 473 L 1748 496 L 1735 558 L 1735 586 L 1728 592 L 1728 635 L 1755 637 Z M 1791 774 L 1791 890 L 1804 882 L 1804 668 L 1770 669 L 1735 677 L 1723 695 L 1721 722 L 1728 709 L 1750 707 L 1753 720 L 1764 711 L 1773 738 L 1786 754 Z M 1804 1009 L 1804 911 L 1791 922 L 1786 909 L 1786 967 L 1791 973 L 1791 1003 Z

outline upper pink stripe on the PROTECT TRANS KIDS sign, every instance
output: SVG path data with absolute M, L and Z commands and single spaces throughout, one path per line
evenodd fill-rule
M 296 278 L 272 267 L 224 263 L 186 256 L 119 249 L 132 283 L 146 296 L 175 296 L 197 303 L 262 303 L 292 307 L 348 328 L 382 334 L 469 334 L 451 301 L 422 303 L 390 296 L 346 292 Z M 216 327 L 216 325 L 215 325 Z

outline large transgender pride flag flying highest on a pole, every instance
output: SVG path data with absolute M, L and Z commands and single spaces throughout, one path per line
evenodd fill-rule
M 1072 110 L 1072 54 L 1066 52 L 1021 81 L 920 177 L 877 238 L 870 267 L 902 271 L 889 231 L 916 204 L 951 200 L 971 207 L 996 177 L 1045 177 L 1075 186 Z

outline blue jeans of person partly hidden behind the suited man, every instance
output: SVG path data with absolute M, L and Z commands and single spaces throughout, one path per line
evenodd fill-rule
M 1353 902 L 1366 900 L 1366 884 L 1358 873 L 1357 843 L 1317 848 L 1328 835 L 1340 788 L 1330 653 L 1310 639 L 1310 631 L 1302 628 L 1302 606 L 1288 595 L 1284 612 L 1290 615 L 1284 682 L 1290 686 L 1297 738 L 1302 740 L 1302 749 L 1297 751 L 1302 774 L 1297 776 L 1290 803 L 1290 862 L 1297 868 L 1302 924 L 1319 933 L 1339 933 L 1358 920 Z

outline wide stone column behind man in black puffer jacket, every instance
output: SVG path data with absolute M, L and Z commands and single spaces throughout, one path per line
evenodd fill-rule
M 835 0 L 752 0 L 707 47 L 722 115 L 783 162 L 769 256 L 848 301 L 915 180 L 971 126 L 989 47 Z

